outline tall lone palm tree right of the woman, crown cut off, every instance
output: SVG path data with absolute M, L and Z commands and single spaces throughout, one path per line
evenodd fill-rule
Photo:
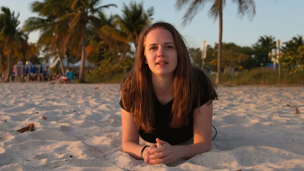
M 204 7 L 208 2 L 212 2 L 212 7 L 209 10 L 209 15 L 216 20 L 219 19 L 219 37 L 218 37 L 218 54 L 217 54 L 217 77 L 216 83 L 221 81 L 221 47 L 222 47 L 222 23 L 223 23 L 223 7 L 226 4 L 226 0 L 177 0 L 176 7 L 180 10 L 183 6 L 188 5 L 189 7 L 182 17 L 182 25 L 186 25 L 192 21 L 200 7 Z M 238 4 L 238 14 L 243 17 L 246 13 L 251 19 L 255 15 L 255 3 L 253 0 L 233 0 L 234 3 Z

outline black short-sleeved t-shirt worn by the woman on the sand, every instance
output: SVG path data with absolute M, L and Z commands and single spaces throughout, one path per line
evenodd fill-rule
M 200 106 L 202 106 L 210 100 L 209 86 L 207 83 L 207 78 L 204 76 L 202 71 L 196 69 L 195 72 L 197 79 L 199 80 L 199 86 L 202 87 L 200 94 Z M 172 121 L 172 115 L 170 116 L 170 113 L 174 99 L 169 101 L 167 104 L 162 105 L 154 93 L 153 100 L 155 111 L 155 129 L 149 133 L 145 133 L 144 130 L 139 129 L 139 135 L 144 141 L 156 143 L 156 138 L 159 138 L 170 145 L 177 145 L 185 143 L 193 138 L 193 111 L 197 108 L 198 97 L 194 97 L 192 111 L 187 114 L 188 124 L 180 128 L 171 128 L 169 126 Z M 120 100 L 120 106 L 124 109 L 122 100 Z

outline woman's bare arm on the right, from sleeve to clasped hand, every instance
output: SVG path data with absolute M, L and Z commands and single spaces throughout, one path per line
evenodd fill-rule
M 207 104 L 208 102 L 194 111 L 194 143 L 188 146 L 171 146 L 167 142 L 157 139 L 157 143 L 161 146 L 154 150 L 151 150 L 151 153 L 155 153 L 154 155 L 150 156 L 151 163 L 168 164 L 179 158 L 189 159 L 211 149 L 213 104 L 212 102 L 209 106 Z M 198 110 L 200 113 L 198 113 Z

